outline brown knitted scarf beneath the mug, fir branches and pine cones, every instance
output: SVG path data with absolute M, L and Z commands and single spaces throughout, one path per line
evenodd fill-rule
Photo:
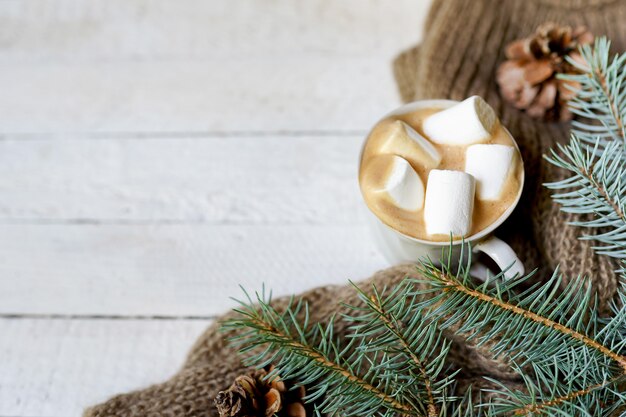
M 513 246 L 527 270 L 540 267 L 538 279 L 560 264 L 565 277 L 591 277 L 601 299 L 607 300 L 617 285 L 612 272 L 615 266 L 606 257 L 595 255 L 589 243 L 577 239 L 580 230 L 567 225 L 573 215 L 561 213 L 542 186 L 563 176 L 541 156 L 557 141 L 567 139 L 569 126 L 531 119 L 505 104 L 495 82 L 504 46 L 531 34 L 546 21 L 584 24 L 596 35 L 607 35 L 615 51 L 626 49 L 626 0 L 435 0 L 422 44 L 400 55 L 394 71 L 405 101 L 460 100 L 477 94 L 494 107 L 517 139 L 526 169 L 520 204 L 498 235 Z M 415 273 L 413 266 L 390 268 L 374 274 L 362 287 L 368 288 L 371 283 L 379 287 L 393 285 Z M 349 287 L 321 287 L 302 296 L 310 304 L 313 321 L 324 321 L 340 311 L 340 301 L 357 303 Z M 284 299 L 275 301 L 278 306 L 284 303 Z M 217 416 L 213 398 L 243 372 L 237 354 L 217 328 L 216 323 L 207 329 L 171 379 L 118 395 L 86 410 L 85 417 Z M 337 334 L 343 331 L 339 327 Z M 484 387 L 483 375 L 508 381 L 512 386 L 518 383 L 505 365 L 490 359 L 484 347 L 477 349 L 459 336 L 448 336 L 454 341 L 451 365 L 463 369 L 459 376 L 461 391 L 469 384 Z

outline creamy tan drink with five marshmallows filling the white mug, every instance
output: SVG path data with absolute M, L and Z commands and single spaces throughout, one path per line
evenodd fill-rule
M 485 106 L 474 96 L 448 109 L 392 115 L 374 126 L 363 148 L 359 184 L 383 223 L 417 239 L 447 241 L 451 233 L 479 233 L 515 203 L 523 182 L 521 156 Z M 424 131 L 425 122 L 437 141 Z

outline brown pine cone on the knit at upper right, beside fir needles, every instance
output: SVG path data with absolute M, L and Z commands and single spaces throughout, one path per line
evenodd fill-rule
M 496 73 L 500 93 L 531 117 L 571 120 L 567 102 L 574 96 L 572 89 L 579 86 L 556 75 L 576 73 L 577 69 L 565 57 L 581 60 L 578 47 L 592 43 L 593 39 L 584 26 L 572 29 L 544 23 L 532 36 L 511 42 L 505 50 L 508 59 Z

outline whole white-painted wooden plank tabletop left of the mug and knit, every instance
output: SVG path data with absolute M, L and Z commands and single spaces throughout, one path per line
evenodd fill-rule
M 0 417 L 180 366 L 238 285 L 385 266 L 356 183 L 424 0 L 0 0 Z

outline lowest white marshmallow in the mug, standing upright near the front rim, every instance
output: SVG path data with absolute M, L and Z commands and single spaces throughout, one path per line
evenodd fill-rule
M 465 172 L 430 171 L 424 206 L 426 232 L 429 235 L 468 235 L 472 228 L 474 190 L 474 178 Z

